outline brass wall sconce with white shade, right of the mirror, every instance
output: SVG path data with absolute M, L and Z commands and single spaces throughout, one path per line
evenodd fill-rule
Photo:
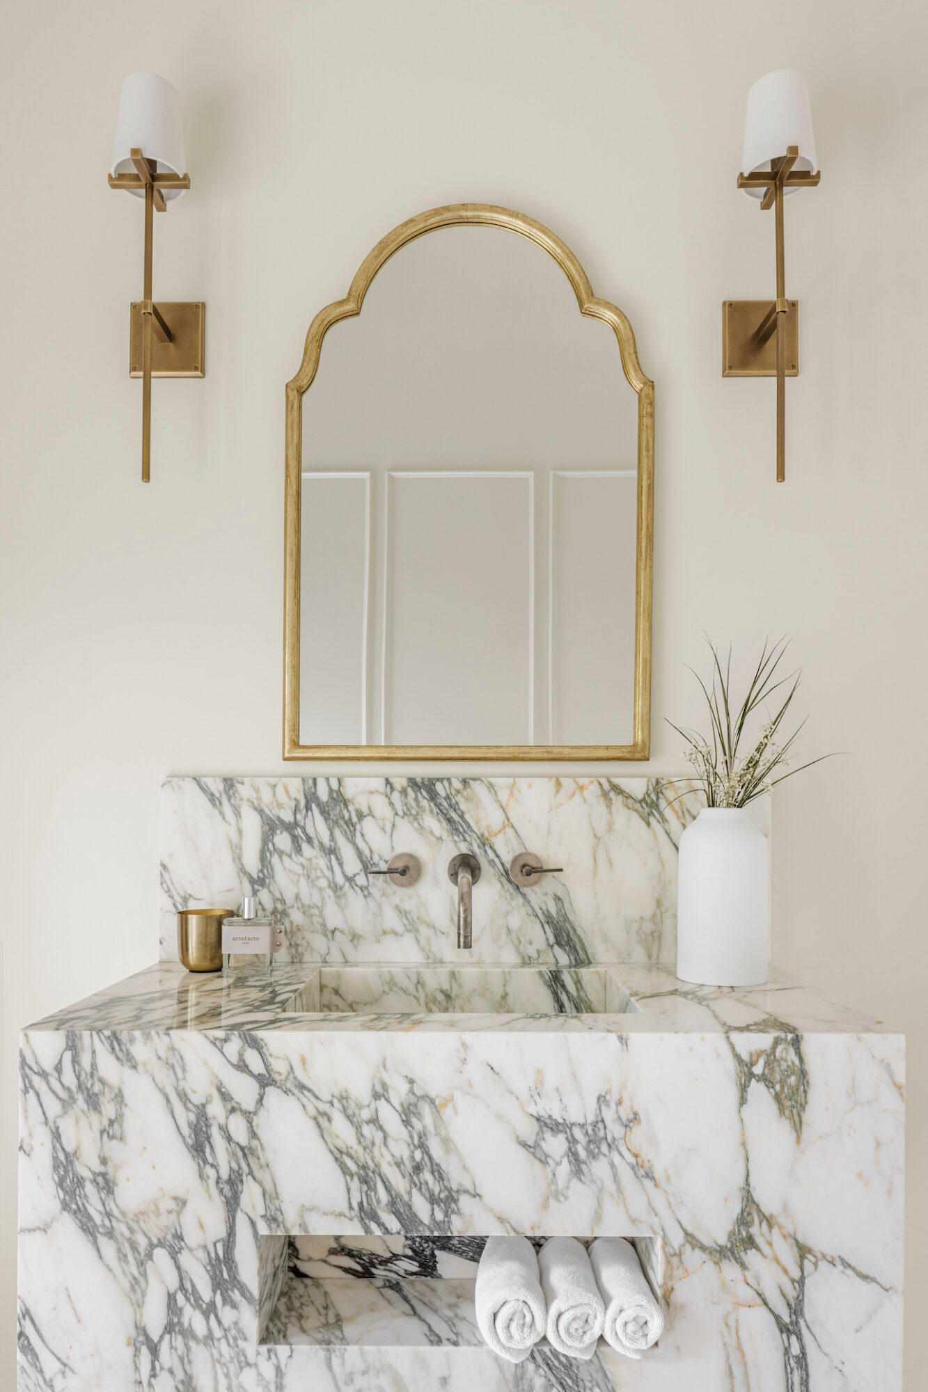
M 726 299 L 722 305 L 722 376 L 776 376 L 776 482 L 786 477 L 786 379 L 798 374 L 798 305 L 786 298 L 783 198 L 814 188 L 812 113 L 801 72 L 768 72 L 748 92 L 738 188 L 773 209 L 776 299 Z

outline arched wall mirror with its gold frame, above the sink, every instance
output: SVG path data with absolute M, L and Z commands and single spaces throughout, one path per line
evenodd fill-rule
M 648 759 L 652 487 L 573 252 L 479 203 L 394 228 L 287 384 L 284 759 Z

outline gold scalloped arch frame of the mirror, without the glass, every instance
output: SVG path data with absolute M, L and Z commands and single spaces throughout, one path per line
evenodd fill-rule
M 322 341 L 333 324 L 361 313 L 376 273 L 403 246 L 440 227 L 502 227 L 542 246 L 573 285 L 581 315 L 609 324 L 619 342 L 621 367 L 638 394 L 638 516 L 635 567 L 634 742 L 631 745 L 301 745 L 300 743 L 300 548 L 302 476 L 302 397 L 319 366 Z M 552 231 L 509 207 L 489 203 L 450 203 L 400 223 L 378 242 L 351 281 L 344 299 L 320 309 L 309 324 L 302 362 L 287 383 L 284 503 L 284 759 L 621 759 L 651 754 L 651 586 L 654 554 L 654 383 L 638 362 L 635 335 L 627 317 L 606 299 L 596 299 L 587 274 L 564 242 Z

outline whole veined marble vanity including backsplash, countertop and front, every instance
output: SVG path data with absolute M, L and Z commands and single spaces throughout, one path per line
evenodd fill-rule
M 21 1392 L 897 1392 L 903 1038 L 780 976 L 674 979 L 694 809 L 170 780 L 162 960 L 22 1036 Z M 563 874 L 514 885 L 520 849 Z M 396 851 L 411 889 L 369 873 Z M 184 972 L 177 909 L 244 889 L 287 928 L 270 979 Z M 658 1347 L 499 1361 L 472 1282 L 500 1232 L 633 1237 Z

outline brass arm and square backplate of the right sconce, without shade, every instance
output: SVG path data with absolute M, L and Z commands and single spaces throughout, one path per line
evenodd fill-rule
M 741 189 L 764 189 L 761 212 L 773 209 L 776 234 L 776 299 L 730 299 L 722 309 L 722 376 L 776 376 L 776 482 L 786 479 L 786 379 L 798 372 L 798 306 L 786 298 L 783 249 L 783 192 L 787 188 L 815 188 L 821 173 L 794 170 L 798 148 L 771 160 L 771 168 L 738 174 Z M 759 317 L 758 317 L 759 316 Z M 765 345 L 776 334 L 775 354 Z M 789 352 L 787 352 L 789 349 Z

